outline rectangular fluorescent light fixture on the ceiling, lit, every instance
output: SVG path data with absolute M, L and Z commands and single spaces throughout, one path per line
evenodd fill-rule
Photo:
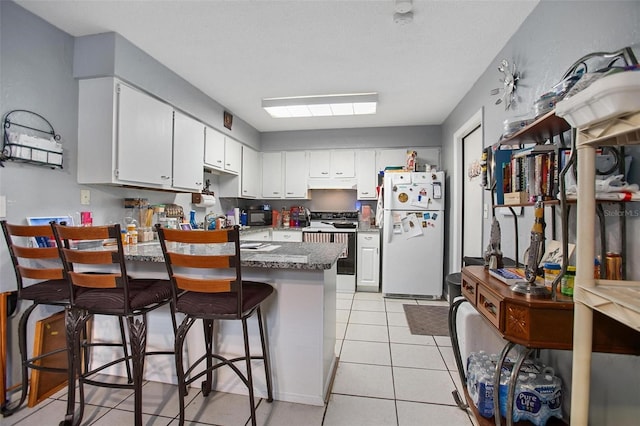
M 274 118 L 375 114 L 377 104 L 378 94 L 375 92 L 262 100 L 262 108 Z

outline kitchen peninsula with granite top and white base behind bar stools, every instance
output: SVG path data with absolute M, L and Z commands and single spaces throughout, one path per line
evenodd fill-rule
M 140 243 L 125 250 L 130 275 L 167 277 L 159 243 Z M 343 250 L 342 244 L 289 242 L 242 250 L 243 279 L 267 282 L 275 288 L 264 314 L 276 400 L 310 405 L 325 403 L 336 367 L 336 261 Z M 217 336 L 222 336 L 220 352 L 243 352 L 242 331 L 237 322 L 218 322 Z M 96 318 L 94 327 L 94 339 L 117 340 L 117 321 L 108 323 L 106 318 Z M 260 341 L 254 318 L 249 320 L 249 328 L 251 347 L 258 350 Z M 148 351 L 173 348 L 168 308 L 149 316 L 147 345 Z M 201 334 L 191 333 L 185 356 L 198 357 L 202 351 Z M 113 357 L 108 351 L 96 351 L 94 362 L 103 363 Z M 264 376 L 260 374 L 263 370 L 254 371 L 256 395 L 266 396 Z M 108 373 L 125 376 L 124 369 L 112 368 Z M 173 357 L 148 357 L 145 379 L 176 383 Z M 215 388 L 246 394 L 246 387 L 227 369 L 218 370 Z

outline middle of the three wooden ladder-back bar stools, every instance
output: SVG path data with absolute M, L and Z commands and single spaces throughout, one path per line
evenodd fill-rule
M 173 354 L 172 351 L 146 352 L 147 313 L 169 304 L 173 329 L 172 285 L 168 280 L 132 279 L 127 275 L 120 225 L 73 227 L 51 224 L 62 265 L 71 285 L 70 307 L 67 311 L 66 332 L 70 351 L 69 396 L 65 425 L 80 424 L 84 412 L 84 384 L 108 388 L 133 389 L 134 422 L 142 424 L 142 381 L 145 357 L 152 354 Z M 107 242 L 109 247 L 103 247 Z M 105 268 L 110 268 L 106 271 Z M 80 368 L 80 331 L 92 315 L 116 316 L 126 319 L 131 355 L 115 359 L 91 369 Z M 88 349 L 92 344 L 88 344 Z M 87 354 L 88 356 L 88 354 Z M 119 363 L 133 366 L 133 381 L 113 383 L 100 381 L 97 373 Z M 75 411 L 75 382 L 78 377 L 80 408 Z

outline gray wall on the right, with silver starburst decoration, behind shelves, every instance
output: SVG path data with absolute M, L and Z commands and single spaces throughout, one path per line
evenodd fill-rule
M 484 110 L 484 143 L 496 143 L 502 134 L 505 119 L 520 114 L 533 115 L 531 106 L 536 98 L 558 83 L 569 66 L 582 56 L 595 51 L 614 51 L 624 46 L 634 46 L 636 56 L 640 53 L 640 2 L 638 1 L 542 1 L 518 32 L 496 56 L 492 65 L 478 79 L 464 99 L 458 104 L 442 125 L 443 168 L 453 170 L 453 136 L 478 110 Z M 523 73 L 518 93 L 518 105 L 513 111 L 505 111 L 502 105 L 494 105 L 496 96 L 491 89 L 499 86 L 497 71 L 499 62 L 506 58 L 515 60 Z M 632 150 L 635 159 L 630 171 L 630 181 L 640 182 L 640 155 Z M 449 186 L 450 188 L 450 186 Z M 451 194 L 449 194 L 451 195 Z M 451 196 L 448 197 L 451 199 Z M 485 193 L 485 203 L 490 203 Z M 630 276 L 640 279 L 640 266 L 634 260 L 640 255 L 640 203 L 627 204 L 628 248 Z M 480 214 L 480 213 L 479 213 Z M 511 219 L 498 216 L 502 229 L 502 248 L 513 257 L 513 229 Z M 531 209 L 519 217 L 520 253 L 529 245 L 527 238 L 531 228 Z M 575 220 L 572 221 L 575 227 Z M 611 223 L 611 222 L 610 222 Z M 458 226 L 452 223 L 449 237 Z M 488 235 L 490 220 L 485 220 L 485 235 Z M 575 241 L 575 231 L 570 240 Z M 610 235 L 613 243 L 619 239 L 615 232 Z M 633 240 L 633 241 L 632 241 Z M 486 245 L 486 241 L 485 241 Z M 522 256 L 522 255 L 521 255 Z M 543 351 L 543 358 L 556 368 L 565 384 L 565 414 L 570 411 L 570 384 L 572 353 L 570 351 Z M 628 425 L 636 424 L 640 414 L 640 357 L 595 354 L 592 364 L 590 424 Z

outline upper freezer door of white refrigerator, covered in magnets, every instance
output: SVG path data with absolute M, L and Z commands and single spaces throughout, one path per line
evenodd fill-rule
M 386 210 L 444 210 L 444 172 L 391 173 L 384 202 Z

